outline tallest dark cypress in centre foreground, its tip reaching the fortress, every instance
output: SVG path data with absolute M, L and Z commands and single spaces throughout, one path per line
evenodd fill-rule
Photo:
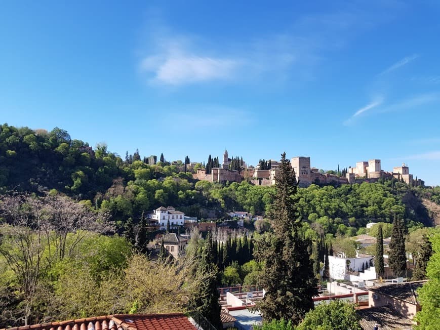
M 300 235 L 297 212 L 295 172 L 282 154 L 276 176 L 276 195 L 272 212 L 274 233 L 267 233 L 257 244 L 256 257 L 265 263 L 265 276 L 259 285 L 266 294 L 257 302 L 266 321 L 284 318 L 298 324 L 313 308 L 312 297 L 317 295 L 317 281 L 307 251 L 310 240 Z

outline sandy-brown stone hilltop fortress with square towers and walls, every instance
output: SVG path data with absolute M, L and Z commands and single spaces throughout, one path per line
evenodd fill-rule
M 223 163 L 221 167 L 211 169 L 211 173 L 207 174 L 205 169 L 198 169 L 193 174 L 194 179 L 206 180 L 210 182 L 241 182 L 244 179 L 249 179 L 253 184 L 258 186 L 270 186 L 275 184 L 275 178 L 279 171 L 279 161 L 270 159 L 271 168 L 269 170 L 260 170 L 259 166 L 244 166 L 241 171 L 229 169 L 230 158 L 228 152 L 225 150 L 223 154 Z M 300 187 L 308 187 L 312 183 L 315 184 L 351 184 L 361 181 L 374 182 L 381 178 L 391 179 L 395 178 L 399 181 L 404 181 L 410 186 L 423 186 L 425 183 L 421 179 L 414 179 L 412 174 L 409 174 L 407 164 L 403 163 L 400 167 L 394 167 L 392 172 L 387 172 L 381 169 L 380 159 L 370 159 L 368 161 L 358 161 L 355 167 L 349 167 L 345 176 L 338 176 L 336 174 L 324 173 L 319 169 L 311 167 L 310 157 L 297 156 L 290 161 L 292 168 L 295 170 L 296 179 L 299 181 Z

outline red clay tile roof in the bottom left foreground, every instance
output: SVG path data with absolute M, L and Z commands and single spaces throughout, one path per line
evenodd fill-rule
M 1 330 L 196 330 L 183 313 L 94 316 Z

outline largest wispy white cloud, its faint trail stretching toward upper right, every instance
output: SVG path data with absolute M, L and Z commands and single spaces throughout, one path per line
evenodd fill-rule
M 374 13 L 375 15 L 371 15 Z M 152 13 L 139 50 L 138 68 L 150 84 L 184 86 L 209 81 L 314 80 L 329 51 L 344 47 L 359 30 L 378 24 L 383 6 L 345 6 L 328 14 L 296 17 L 285 30 L 259 37 L 211 40 L 178 33 Z M 375 17 L 375 21 L 371 17 Z

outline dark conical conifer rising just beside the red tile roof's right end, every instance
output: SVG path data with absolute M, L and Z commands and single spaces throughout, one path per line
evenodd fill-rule
M 208 232 L 207 244 L 202 252 L 202 258 L 197 265 L 197 273 L 203 276 L 196 290 L 188 301 L 189 311 L 196 311 L 204 316 L 217 329 L 222 328 L 220 320 L 221 307 L 218 302 L 220 294 L 217 290 L 218 268 L 212 259 L 212 237 Z

